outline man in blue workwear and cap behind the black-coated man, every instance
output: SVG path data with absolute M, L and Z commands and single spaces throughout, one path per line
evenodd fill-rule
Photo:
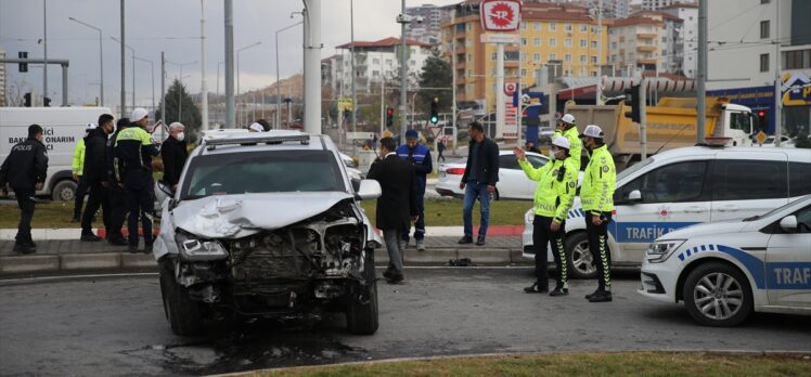
M 417 251 L 425 251 L 425 184 L 428 173 L 434 170 L 430 161 L 430 151 L 425 144 L 420 143 L 420 133 L 416 130 L 406 131 L 406 144 L 397 148 L 397 155 L 414 167 L 416 182 L 416 209 L 420 218 L 414 223 L 414 240 Z M 402 248 L 409 244 L 411 225 L 402 232 Z

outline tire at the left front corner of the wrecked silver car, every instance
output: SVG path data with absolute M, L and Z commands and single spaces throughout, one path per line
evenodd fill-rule
M 178 284 L 168 258 L 160 262 L 160 294 L 164 314 L 175 335 L 195 336 L 203 332 L 203 304 L 192 300 L 189 290 Z

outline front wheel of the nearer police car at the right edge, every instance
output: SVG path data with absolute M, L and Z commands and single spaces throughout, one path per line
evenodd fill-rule
M 736 326 L 752 312 L 749 281 L 726 263 L 699 265 L 684 280 L 682 291 L 687 313 L 704 326 Z

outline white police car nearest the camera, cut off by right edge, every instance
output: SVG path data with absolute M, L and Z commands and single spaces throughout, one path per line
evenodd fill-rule
M 641 278 L 641 295 L 684 301 L 701 325 L 734 326 L 752 311 L 811 315 L 811 195 L 668 233 L 648 246 Z

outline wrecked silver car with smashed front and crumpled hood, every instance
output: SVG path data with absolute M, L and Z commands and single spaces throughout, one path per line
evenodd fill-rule
M 154 253 L 178 335 L 228 317 L 318 321 L 346 313 L 377 330 L 374 248 L 359 206 L 381 195 L 352 181 L 327 136 L 295 131 L 204 140 L 163 206 Z

